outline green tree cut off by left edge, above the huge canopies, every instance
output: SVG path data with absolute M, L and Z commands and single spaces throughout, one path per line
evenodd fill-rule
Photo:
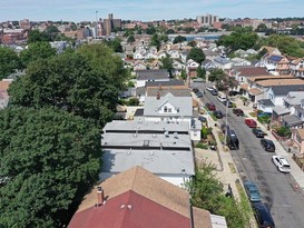
M 8 48 L 0 46 L 0 80 L 21 69 L 21 62 L 17 53 Z

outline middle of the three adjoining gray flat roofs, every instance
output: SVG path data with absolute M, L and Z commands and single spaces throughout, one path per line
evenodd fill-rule
M 169 133 L 104 133 L 101 145 L 107 147 L 140 148 L 149 149 L 150 147 L 169 147 L 185 148 L 192 150 L 192 140 L 189 135 Z M 145 147 L 145 148 L 144 148 Z

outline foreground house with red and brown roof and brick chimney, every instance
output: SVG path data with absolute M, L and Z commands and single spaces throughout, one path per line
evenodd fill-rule
M 85 196 L 68 228 L 219 226 L 227 228 L 225 218 L 193 207 L 186 190 L 141 167 L 134 167 L 92 188 Z

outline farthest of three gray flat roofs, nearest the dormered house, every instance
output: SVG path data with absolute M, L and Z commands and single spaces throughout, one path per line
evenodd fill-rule
M 187 121 L 176 121 L 166 122 L 166 121 L 135 121 L 135 120 L 112 120 L 108 122 L 104 132 L 108 130 L 124 131 L 124 130 L 146 130 L 146 131 L 176 131 L 176 132 L 188 132 L 189 122 Z

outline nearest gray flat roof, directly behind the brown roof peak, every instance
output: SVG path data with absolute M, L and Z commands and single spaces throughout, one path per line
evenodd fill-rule
M 122 172 L 141 166 L 156 175 L 183 175 L 183 169 L 195 175 L 192 151 L 105 149 L 102 160 L 101 172 Z

